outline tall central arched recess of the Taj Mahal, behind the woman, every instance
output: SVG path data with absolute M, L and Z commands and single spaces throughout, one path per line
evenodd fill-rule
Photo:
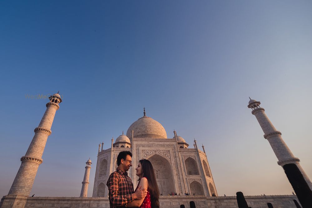
M 153 165 L 159 192 L 164 196 L 175 192 L 172 169 L 168 160 L 158 154 L 154 154 L 148 160 Z

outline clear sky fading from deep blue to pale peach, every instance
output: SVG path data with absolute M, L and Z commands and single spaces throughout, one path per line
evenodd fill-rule
M 261 102 L 312 178 L 311 1 L 0 1 L 0 196 L 60 90 L 31 195 L 80 196 L 98 144 L 143 116 L 204 144 L 220 196 L 291 194 L 247 108 Z M 200 145 L 201 146 L 201 145 Z

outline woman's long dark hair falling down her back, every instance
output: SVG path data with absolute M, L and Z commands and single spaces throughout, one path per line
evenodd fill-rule
M 142 165 L 143 177 L 148 180 L 149 194 L 151 196 L 152 208 L 159 208 L 159 189 L 156 182 L 154 168 L 149 160 L 143 159 L 139 161 Z

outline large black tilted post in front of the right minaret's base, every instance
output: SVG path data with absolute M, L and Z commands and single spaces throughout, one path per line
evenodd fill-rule
M 293 187 L 303 208 L 312 207 L 312 191 L 296 164 L 283 166 L 286 176 Z

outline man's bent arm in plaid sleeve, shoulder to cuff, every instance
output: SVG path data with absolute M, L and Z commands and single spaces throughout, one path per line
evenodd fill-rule
M 118 195 L 118 189 L 119 189 L 119 177 L 117 175 L 117 173 L 112 173 L 110 174 L 110 177 L 107 180 L 107 187 L 108 187 L 108 191 L 109 191 L 109 200 L 110 200 L 110 204 L 112 206 L 125 206 L 127 203 L 129 203 L 130 201 L 132 201 L 132 195 L 133 194 L 126 194 L 126 195 L 122 195 L 119 196 Z

